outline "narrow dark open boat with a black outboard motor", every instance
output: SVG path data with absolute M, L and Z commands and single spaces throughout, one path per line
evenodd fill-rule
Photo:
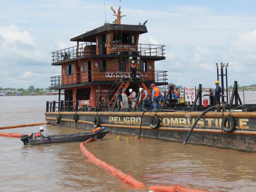
M 100 133 L 97 133 L 97 138 L 102 139 L 109 133 L 108 131 L 101 131 Z M 90 138 L 95 138 L 95 133 L 87 132 L 87 133 L 81 133 L 80 131 L 78 133 L 71 133 L 71 134 L 61 134 L 61 135 L 48 135 L 48 137 L 51 138 L 51 140 L 45 138 L 45 139 L 37 139 L 36 136 L 28 136 L 28 135 L 21 135 L 20 140 L 23 141 L 24 145 L 30 144 L 30 145 L 40 145 L 40 144 L 51 144 L 51 143 L 66 143 L 66 142 L 78 142 L 78 141 L 86 141 Z

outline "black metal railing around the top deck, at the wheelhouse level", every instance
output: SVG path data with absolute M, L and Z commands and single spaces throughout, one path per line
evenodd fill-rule
M 118 44 L 119 45 L 119 44 Z M 110 46 L 107 45 L 105 47 L 101 47 L 102 49 L 96 49 L 96 43 L 83 43 L 77 46 L 69 47 L 66 49 L 62 49 L 59 51 L 55 51 L 52 54 L 52 61 L 59 62 L 67 59 L 73 59 L 76 57 L 81 57 L 85 55 L 106 55 L 106 54 L 117 54 L 119 55 L 121 52 L 127 52 L 128 54 L 132 54 L 133 52 L 137 53 L 138 56 L 164 56 L 164 47 L 165 45 L 151 45 L 151 44 L 120 44 L 125 45 L 126 50 L 119 50 L 118 48 L 111 50 Z M 130 48 L 132 47 L 132 48 Z M 134 47 L 136 50 L 134 50 Z

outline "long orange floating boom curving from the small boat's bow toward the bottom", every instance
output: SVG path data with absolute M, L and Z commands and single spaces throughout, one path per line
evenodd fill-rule
M 88 142 L 91 142 L 91 141 L 96 141 L 96 140 L 98 140 L 98 138 L 90 138 L 90 139 L 88 139 L 85 142 L 80 144 L 81 151 L 83 152 L 83 154 L 85 154 L 88 157 L 88 159 L 90 159 L 92 162 L 99 165 L 100 167 L 108 170 L 113 175 L 116 175 L 116 177 L 118 177 L 119 179 L 121 179 L 125 183 L 128 183 L 128 184 L 130 184 L 132 186 L 135 186 L 137 188 L 146 187 L 146 185 L 144 183 L 141 183 L 141 182 L 137 181 L 131 175 L 123 173 L 119 169 L 116 169 L 113 166 L 107 164 L 105 161 L 101 161 L 100 159 L 96 158 L 91 152 L 89 152 L 86 149 L 85 144 L 88 143 Z

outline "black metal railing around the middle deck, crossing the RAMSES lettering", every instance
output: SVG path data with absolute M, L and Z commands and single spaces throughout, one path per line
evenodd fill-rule
M 65 85 L 75 85 L 81 83 L 91 83 L 91 82 L 105 82 L 116 81 L 117 79 L 129 80 L 129 72 L 120 72 L 113 70 L 105 70 L 105 73 L 97 74 L 99 70 L 83 71 L 77 73 L 71 73 L 67 75 L 59 75 L 51 77 L 51 87 L 60 87 Z M 167 82 L 167 71 L 147 71 L 142 72 L 137 71 L 137 76 L 143 77 L 144 80 L 150 82 Z

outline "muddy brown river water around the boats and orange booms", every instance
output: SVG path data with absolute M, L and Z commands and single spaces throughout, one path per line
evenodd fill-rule
M 245 92 L 245 101 L 254 100 L 254 93 Z M 53 100 L 58 101 L 58 96 L 0 97 L 0 127 L 46 122 L 46 101 Z M 41 126 L 48 135 L 86 132 L 54 125 L 0 132 L 31 134 Z M 181 185 L 209 191 L 255 191 L 256 153 L 192 144 L 184 146 L 181 142 L 157 139 L 130 137 L 127 141 L 127 136 L 118 140 L 116 137 L 108 134 L 100 141 L 90 142 L 86 148 L 147 188 L 134 188 L 92 163 L 81 152 L 80 142 L 24 146 L 19 138 L 1 136 L 0 190 L 134 192 L 148 191 L 151 185 Z

